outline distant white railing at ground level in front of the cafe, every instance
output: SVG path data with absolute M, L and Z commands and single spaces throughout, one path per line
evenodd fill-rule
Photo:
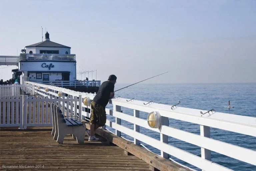
M 46 85 L 53 85 L 56 87 L 79 87 L 79 86 L 83 86 L 83 87 L 99 87 L 100 86 L 100 81 L 33 81 L 36 83 L 40 83 L 40 84 L 46 84 Z

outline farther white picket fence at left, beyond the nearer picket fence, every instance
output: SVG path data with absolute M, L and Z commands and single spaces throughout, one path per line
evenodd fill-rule
M 20 84 L 0 85 L 0 96 L 19 96 L 22 91 L 33 94 L 33 86 Z

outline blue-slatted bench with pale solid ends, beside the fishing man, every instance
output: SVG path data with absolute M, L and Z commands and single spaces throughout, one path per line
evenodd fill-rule
M 73 138 L 76 139 L 78 143 L 83 143 L 86 126 L 75 118 L 65 118 L 57 105 L 52 104 L 52 109 L 52 135 L 54 133 L 54 139 L 56 139 L 58 143 L 62 144 L 64 137 L 68 134 L 72 134 Z

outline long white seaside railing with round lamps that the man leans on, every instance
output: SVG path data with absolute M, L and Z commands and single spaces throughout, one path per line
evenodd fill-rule
M 27 82 L 27 84 L 33 85 L 34 93 L 41 96 L 58 96 L 58 92 L 61 92 L 62 95 L 65 94 L 66 96 L 81 95 L 82 101 L 86 97 L 89 97 L 90 99 L 94 98 L 94 94 L 91 93 L 75 92 L 65 88 L 33 82 Z M 40 89 L 37 89 L 38 86 L 40 86 Z M 49 91 L 46 92 L 45 88 L 48 88 Z M 171 108 L 169 105 L 148 103 L 139 100 L 128 100 L 124 98 L 112 99 L 109 103 L 113 105 L 113 110 L 106 109 L 107 114 L 116 118 L 115 122 L 110 120 L 107 120 L 106 122 L 107 126 L 116 130 L 116 135 L 121 136 L 121 133 L 124 133 L 133 137 L 135 144 L 143 142 L 159 149 L 161 151 L 161 156 L 164 158 L 167 158 L 169 154 L 205 171 L 230 170 L 210 161 L 211 151 L 256 165 L 256 151 L 210 138 L 210 127 L 256 137 L 256 118 L 220 112 L 202 115 L 198 109 L 184 107 Z M 80 104 L 81 105 L 74 106 L 74 108 L 82 110 L 83 116 L 90 117 L 90 113 L 86 112 L 90 109 L 90 106 L 82 105 L 82 102 L 80 102 Z M 122 113 L 121 107 L 133 109 L 134 116 Z M 159 129 L 150 128 L 147 121 L 140 118 L 140 111 L 147 113 L 158 111 L 161 115 L 162 126 Z M 207 111 L 202 110 L 202 112 L 205 113 Z M 168 123 L 169 118 L 200 125 L 200 135 L 172 128 Z M 121 125 L 121 120 L 132 123 L 134 125 L 134 129 L 129 129 Z M 140 127 L 159 133 L 160 141 L 140 133 Z M 168 136 L 201 147 L 201 157 L 168 144 Z

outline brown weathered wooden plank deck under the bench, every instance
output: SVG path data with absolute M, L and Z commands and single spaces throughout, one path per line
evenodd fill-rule
M 0 170 L 150 170 L 149 164 L 125 155 L 122 148 L 109 145 L 100 136 L 99 142 L 89 142 L 86 135 L 84 143 L 78 144 L 70 135 L 63 144 L 58 144 L 51 130 L 50 127 L 1 128 Z

